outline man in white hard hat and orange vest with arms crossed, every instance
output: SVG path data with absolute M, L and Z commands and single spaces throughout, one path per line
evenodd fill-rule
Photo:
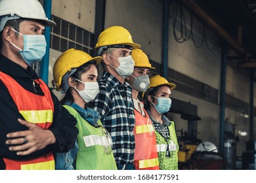
M 53 152 L 74 147 L 76 120 L 35 71 L 45 55 L 45 16 L 37 0 L 0 1 L 1 169 L 54 169 Z

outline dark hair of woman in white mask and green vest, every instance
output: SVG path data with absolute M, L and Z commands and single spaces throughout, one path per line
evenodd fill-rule
M 77 71 L 75 71 L 75 73 L 71 75 L 71 77 L 81 80 L 81 75 L 83 75 L 83 73 L 86 73 L 91 68 L 91 65 L 95 65 L 95 61 L 89 61 L 81 65 L 80 67 L 77 68 Z M 74 80 L 74 82 L 79 82 L 79 81 Z M 74 98 L 72 96 L 71 90 L 72 90 L 71 87 L 68 88 L 66 95 L 63 97 L 63 99 L 61 99 L 60 103 L 62 105 L 64 105 L 67 101 L 70 103 L 74 103 Z

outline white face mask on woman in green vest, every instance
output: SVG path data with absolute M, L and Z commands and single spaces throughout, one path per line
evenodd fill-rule
M 77 80 L 76 78 L 74 79 Z M 83 90 L 81 91 L 77 90 L 77 88 L 75 87 L 75 90 L 79 93 L 83 100 L 86 103 L 94 100 L 96 95 L 98 94 L 98 82 L 82 82 L 81 80 L 78 81 L 85 84 L 85 88 L 83 88 Z

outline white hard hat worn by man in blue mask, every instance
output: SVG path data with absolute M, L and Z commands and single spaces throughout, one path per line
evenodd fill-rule
M 45 10 L 38 0 L 0 0 L 0 31 L 8 20 L 19 18 L 41 20 L 50 27 L 56 25 L 45 16 Z

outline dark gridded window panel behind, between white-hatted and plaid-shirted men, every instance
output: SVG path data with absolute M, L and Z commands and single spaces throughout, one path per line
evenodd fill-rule
M 52 20 L 56 26 L 51 28 L 51 48 L 60 52 L 75 48 L 93 54 L 93 33 L 56 16 Z

